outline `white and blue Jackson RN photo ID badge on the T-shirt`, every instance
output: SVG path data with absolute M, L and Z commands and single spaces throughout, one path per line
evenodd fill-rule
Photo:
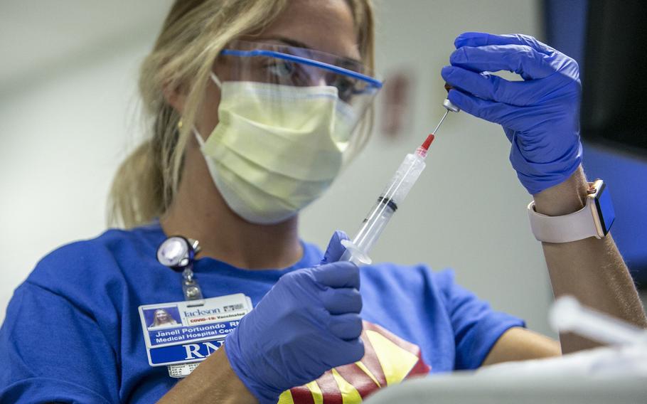
M 146 354 L 151 366 L 195 368 L 223 346 L 225 337 L 252 310 L 245 294 L 139 306 Z

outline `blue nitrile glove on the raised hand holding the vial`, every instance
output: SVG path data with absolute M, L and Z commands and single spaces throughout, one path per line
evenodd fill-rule
M 442 77 L 456 87 L 449 100 L 461 110 L 503 126 L 510 161 L 535 194 L 560 184 L 582 161 L 575 60 L 525 35 L 461 33 Z M 510 70 L 524 81 L 486 72 Z M 485 72 L 485 73 L 484 73 Z

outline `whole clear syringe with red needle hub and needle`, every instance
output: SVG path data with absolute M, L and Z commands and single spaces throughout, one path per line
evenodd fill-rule
M 449 102 L 449 100 L 446 100 Z M 407 154 L 405 160 L 402 161 L 400 167 L 395 171 L 395 175 L 391 181 L 385 186 L 384 191 L 380 193 L 378 201 L 375 206 L 369 211 L 368 215 L 364 218 L 362 226 L 353 240 L 343 240 L 341 243 L 346 247 L 346 251 L 340 258 L 340 261 L 351 261 L 356 265 L 368 265 L 371 260 L 368 257 L 370 248 L 373 247 L 375 242 L 380 238 L 380 234 L 386 227 L 387 223 L 397 211 L 397 207 L 405 200 L 413 184 L 417 181 L 418 177 L 424 170 L 424 158 L 427 157 L 429 146 L 434 141 L 435 134 L 437 134 L 440 125 L 444 121 L 449 111 L 458 112 L 454 105 L 443 106 L 447 109 L 440 122 L 434 129 L 432 134 L 429 134 L 427 139 L 422 142 L 422 145 L 416 149 L 415 152 Z M 450 107 L 451 106 L 451 107 Z

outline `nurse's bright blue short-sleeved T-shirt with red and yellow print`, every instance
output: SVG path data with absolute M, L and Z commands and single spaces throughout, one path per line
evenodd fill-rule
M 166 366 L 149 366 L 138 313 L 142 304 L 183 300 L 182 275 L 156 260 L 165 238 L 157 223 L 108 230 L 43 258 L 16 289 L 0 329 L 0 401 L 154 403 L 170 390 L 178 379 Z M 321 250 L 303 247 L 284 270 L 242 270 L 208 257 L 194 270 L 205 297 L 242 292 L 256 305 L 285 273 L 319 264 Z M 523 326 L 456 285 L 450 270 L 385 263 L 360 274 L 365 330 L 383 336 L 372 340 L 375 351 L 392 341 L 418 355 L 418 372 L 477 368 L 504 331 Z

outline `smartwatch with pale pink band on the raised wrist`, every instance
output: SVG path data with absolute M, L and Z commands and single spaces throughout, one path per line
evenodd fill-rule
M 589 182 L 584 208 L 564 216 L 546 216 L 535 211 L 535 201 L 528 205 L 530 228 L 535 238 L 546 243 L 569 243 L 584 238 L 604 238 L 616 219 L 609 188 L 604 181 Z

